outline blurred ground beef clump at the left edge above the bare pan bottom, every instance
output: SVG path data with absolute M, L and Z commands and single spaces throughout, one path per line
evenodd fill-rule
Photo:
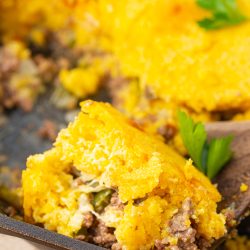
M 7 47 L 0 48 L 2 107 L 10 109 L 18 106 L 24 111 L 31 111 L 37 95 L 42 92 L 42 82 L 36 70 L 37 66 L 32 58 L 20 59 Z

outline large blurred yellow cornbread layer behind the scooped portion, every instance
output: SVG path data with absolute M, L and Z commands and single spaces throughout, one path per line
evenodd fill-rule
M 237 4 L 250 15 L 248 0 Z M 3 40 L 51 30 L 75 47 L 110 54 L 117 63 L 104 70 L 138 85 L 132 81 L 116 91 L 117 107 L 148 132 L 176 127 L 180 107 L 202 121 L 221 119 L 215 112 L 250 108 L 250 22 L 207 31 L 197 21 L 211 13 L 196 0 L 52 0 L 49 6 L 43 0 L 2 0 L 0 11 Z M 78 97 L 92 94 L 98 74 L 88 73 L 90 81 L 77 84 L 64 74 L 64 86 Z

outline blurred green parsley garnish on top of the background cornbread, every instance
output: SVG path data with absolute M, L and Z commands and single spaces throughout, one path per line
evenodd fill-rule
M 196 2 L 203 9 L 212 12 L 211 18 L 198 21 L 200 27 L 204 29 L 221 29 L 247 20 L 241 13 L 236 0 L 196 0 Z

